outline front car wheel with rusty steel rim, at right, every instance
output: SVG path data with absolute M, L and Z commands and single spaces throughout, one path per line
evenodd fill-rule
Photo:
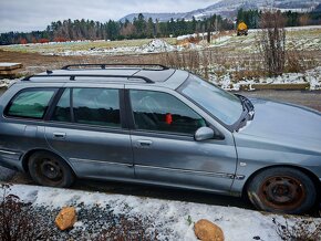
M 302 171 L 278 167 L 259 172 L 250 181 L 248 197 L 258 209 L 298 214 L 315 203 L 313 181 Z

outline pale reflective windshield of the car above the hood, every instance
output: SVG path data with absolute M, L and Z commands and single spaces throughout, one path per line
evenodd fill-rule
M 191 74 L 180 92 L 229 126 L 240 118 L 244 111 L 237 96 Z

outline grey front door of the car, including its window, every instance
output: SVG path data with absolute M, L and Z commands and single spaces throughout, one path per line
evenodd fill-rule
M 128 90 L 127 96 L 134 119 L 131 138 L 136 178 L 217 192 L 230 190 L 237 163 L 230 133 L 196 142 L 195 132 L 211 124 L 178 94 Z

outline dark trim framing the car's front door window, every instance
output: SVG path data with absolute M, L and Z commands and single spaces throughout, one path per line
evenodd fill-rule
M 173 96 L 174 98 L 176 98 L 177 101 L 182 102 L 184 105 L 186 105 L 188 108 L 190 108 L 195 114 L 197 114 L 198 116 L 200 116 L 206 126 L 210 127 L 211 125 L 206 120 L 206 118 L 204 118 L 199 113 L 197 113 L 195 109 L 193 109 L 190 106 L 188 106 L 186 103 L 184 103 L 182 99 L 177 98 L 175 95 L 168 93 L 168 92 L 164 92 L 164 91 L 155 91 L 155 90 L 141 90 L 141 88 L 126 88 L 126 92 L 125 92 L 125 97 L 126 97 L 126 103 L 127 103 L 127 108 L 126 108 L 126 112 L 127 112 L 127 119 L 130 122 L 130 128 L 132 132 L 134 133 L 142 133 L 142 134 L 152 134 L 152 135 L 168 135 L 168 136 L 179 136 L 179 137 L 193 137 L 194 139 L 194 135 L 195 134 L 187 134 L 187 133 L 176 133 L 176 132 L 165 132 L 165 130 L 153 130 L 153 129 L 139 129 L 139 128 L 136 128 L 136 124 L 135 124 L 135 117 L 134 117 L 134 112 L 133 112 L 133 106 L 132 106 L 132 99 L 131 99 L 131 91 L 145 91 L 145 92 L 158 92 L 158 93 L 162 93 L 162 94 L 168 94 L 170 96 Z

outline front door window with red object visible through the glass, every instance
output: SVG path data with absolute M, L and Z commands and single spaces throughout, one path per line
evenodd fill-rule
M 205 119 L 178 98 L 162 92 L 130 92 L 137 129 L 194 135 Z

